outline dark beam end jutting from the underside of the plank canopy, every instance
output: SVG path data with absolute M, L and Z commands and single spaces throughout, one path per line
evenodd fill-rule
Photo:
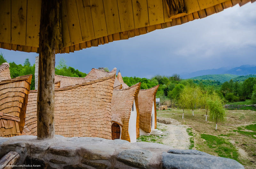
M 165 2 L 169 18 L 178 18 L 187 14 L 184 0 L 165 0 Z

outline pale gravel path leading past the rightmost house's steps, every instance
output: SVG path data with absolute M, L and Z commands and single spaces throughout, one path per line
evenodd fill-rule
M 164 124 L 157 122 L 157 128 L 163 131 L 162 143 L 174 149 L 189 149 L 190 142 L 186 125 Z

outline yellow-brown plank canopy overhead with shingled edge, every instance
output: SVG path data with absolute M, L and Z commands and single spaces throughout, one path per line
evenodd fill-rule
M 255 0 L 63 0 L 56 53 L 128 39 L 250 1 Z M 41 0 L 1 0 L 0 48 L 39 52 L 40 16 Z

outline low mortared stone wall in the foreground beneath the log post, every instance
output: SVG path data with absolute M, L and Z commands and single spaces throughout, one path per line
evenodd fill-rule
M 26 168 L 244 168 L 233 159 L 201 151 L 172 150 L 172 147 L 158 143 L 129 143 L 96 137 L 55 135 L 51 140 L 37 140 L 36 136 L 0 137 L 0 158 L 9 151 L 18 152 L 20 159 L 16 164 L 25 164 Z

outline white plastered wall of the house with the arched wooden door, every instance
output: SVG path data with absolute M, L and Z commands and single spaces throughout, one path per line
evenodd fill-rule
M 133 111 L 131 111 L 129 119 L 128 133 L 130 136 L 131 143 L 136 142 L 136 121 L 137 121 L 137 110 L 135 106 L 135 100 L 133 100 Z

